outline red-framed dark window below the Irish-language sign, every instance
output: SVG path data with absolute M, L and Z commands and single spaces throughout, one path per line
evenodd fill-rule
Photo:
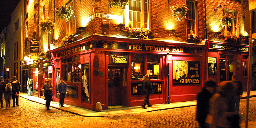
M 231 80 L 234 74 L 234 55 L 220 54 L 220 81 Z

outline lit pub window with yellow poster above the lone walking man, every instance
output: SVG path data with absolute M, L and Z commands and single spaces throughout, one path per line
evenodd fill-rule
M 147 73 L 151 79 L 160 79 L 160 56 L 147 55 Z

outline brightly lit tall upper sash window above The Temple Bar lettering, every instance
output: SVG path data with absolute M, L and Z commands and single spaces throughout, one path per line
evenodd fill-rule
M 125 17 L 125 14 L 129 16 L 133 27 L 149 28 L 148 0 L 130 0 L 128 6 L 129 10 L 125 9 L 123 11 L 123 17 Z M 126 8 L 128 7 L 126 6 Z M 128 25 L 129 20 L 128 18 L 124 19 L 126 25 Z

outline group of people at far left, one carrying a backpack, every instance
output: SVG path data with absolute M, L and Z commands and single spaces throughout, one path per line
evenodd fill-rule
M 0 101 L 1 101 L 1 108 L 3 108 L 3 93 L 5 98 L 6 108 L 10 108 L 11 98 L 13 99 L 13 107 L 16 105 L 19 106 L 19 90 L 21 88 L 20 82 L 16 80 L 17 77 L 13 76 L 12 80 L 9 79 L 0 79 Z M 15 101 L 16 99 L 16 101 Z

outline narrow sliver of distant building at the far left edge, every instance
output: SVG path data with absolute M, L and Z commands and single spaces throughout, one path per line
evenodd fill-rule
M 0 77 L 6 78 L 5 65 L 6 65 L 6 27 L 0 34 Z M 2 68 L 3 67 L 3 68 Z

